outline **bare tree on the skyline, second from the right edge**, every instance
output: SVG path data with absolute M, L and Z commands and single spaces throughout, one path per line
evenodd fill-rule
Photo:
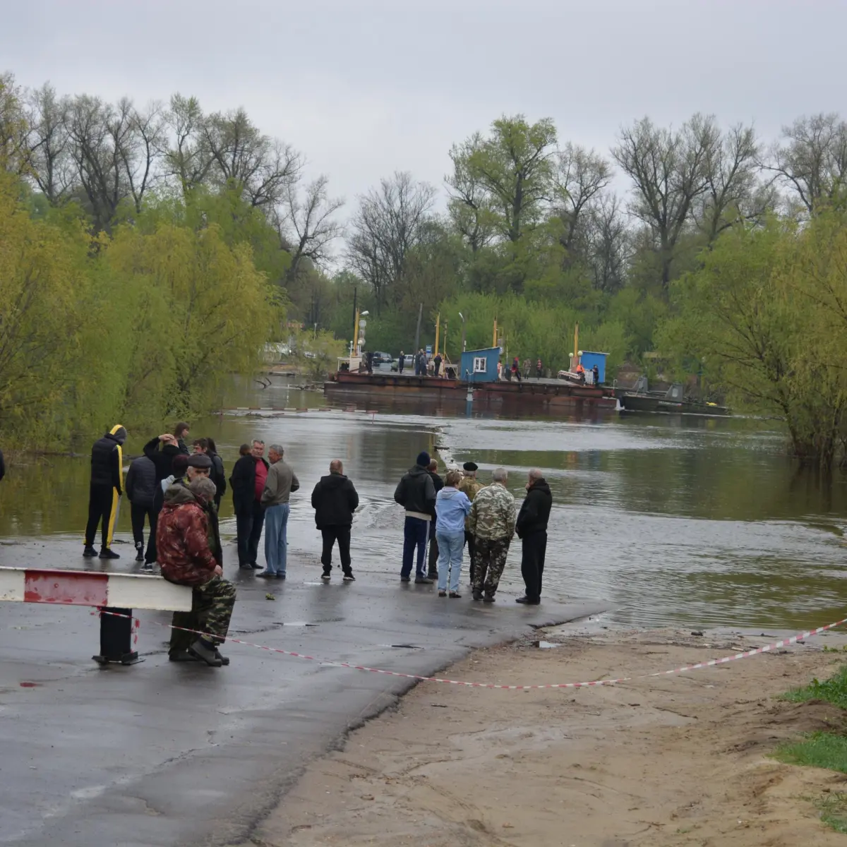
M 713 244 L 735 221 L 761 220 L 772 208 L 775 191 L 759 184 L 758 161 L 759 144 L 751 126 L 730 127 L 709 149 L 706 191 L 692 208 L 708 244 Z

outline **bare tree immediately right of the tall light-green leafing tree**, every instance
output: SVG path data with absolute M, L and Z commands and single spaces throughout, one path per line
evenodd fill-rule
M 559 241 L 567 252 L 573 253 L 580 224 L 610 180 L 609 163 L 593 150 L 568 142 L 556 154 L 554 214 L 562 221 Z

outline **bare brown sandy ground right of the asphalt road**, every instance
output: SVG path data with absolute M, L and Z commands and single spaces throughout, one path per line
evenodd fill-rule
M 479 650 L 443 676 L 535 684 L 651 673 L 750 649 L 758 634 L 558 634 Z M 419 684 L 314 761 L 255 833 L 266 847 L 817 847 L 844 836 L 812 800 L 847 777 L 767 756 L 844 718 L 776 696 L 828 675 L 844 645 L 808 645 L 665 678 L 591 689 Z M 843 657 L 842 657 L 843 658 Z

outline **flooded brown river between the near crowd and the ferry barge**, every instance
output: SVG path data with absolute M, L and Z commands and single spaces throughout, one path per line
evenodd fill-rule
M 822 483 L 794 468 L 775 422 L 615 413 L 510 420 L 375 401 L 317 411 L 324 396 L 283 383 L 234 391 L 230 402 L 316 409 L 227 412 L 191 427 L 192 437 L 217 440 L 228 473 L 242 442 L 257 437 L 285 447 L 302 482 L 292 498 L 290 578 L 318 576 L 308 495 L 329 459 L 340 457 L 362 501 L 353 533 L 354 567 L 365 576 L 359 585 L 381 574 L 396 579 L 403 517 L 394 487 L 418 451 L 438 444 L 457 462 L 478 462 L 484 482 L 492 468 L 506 467 L 518 497 L 527 469 L 544 469 L 554 497 L 545 594 L 608 601 L 609 617 L 634 626 L 796 629 L 842 617 L 847 481 Z M 140 452 L 152 435 L 131 433 L 127 453 Z M 14 540 L 24 537 L 79 534 L 81 552 L 87 459 L 10 458 L 0 484 L 0 561 L 14 564 Z M 222 533 L 234 537 L 229 496 L 221 517 Z M 119 538 L 130 539 L 128 504 Z M 116 549 L 132 555 L 128 545 Z M 226 556 L 234 554 L 226 545 Z M 519 561 L 516 543 L 501 583 L 507 590 L 522 585 Z

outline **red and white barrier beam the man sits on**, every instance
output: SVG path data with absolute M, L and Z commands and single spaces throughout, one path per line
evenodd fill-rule
M 191 589 L 141 573 L 0 567 L 0 601 L 191 612 Z

